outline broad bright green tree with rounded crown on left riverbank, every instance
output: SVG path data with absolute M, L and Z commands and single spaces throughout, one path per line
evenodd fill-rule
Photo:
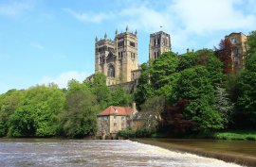
M 57 85 L 35 86 L 10 116 L 9 136 L 51 137 L 58 127 L 58 115 L 64 108 L 64 92 Z

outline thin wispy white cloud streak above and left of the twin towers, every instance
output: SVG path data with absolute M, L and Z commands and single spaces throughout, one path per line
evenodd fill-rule
M 76 19 L 78 19 L 79 21 L 82 21 L 84 23 L 96 23 L 99 24 L 107 19 L 110 19 L 112 17 L 114 17 L 113 13 L 103 13 L 103 12 L 99 12 L 99 13 L 85 13 L 85 12 L 77 12 L 74 11 L 70 8 L 64 8 L 64 11 L 67 12 L 68 14 L 72 15 L 73 17 L 75 17 Z

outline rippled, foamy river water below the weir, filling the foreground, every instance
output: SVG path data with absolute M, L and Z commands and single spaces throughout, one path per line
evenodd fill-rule
M 238 167 L 131 141 L 0 139 L 1 167 Z

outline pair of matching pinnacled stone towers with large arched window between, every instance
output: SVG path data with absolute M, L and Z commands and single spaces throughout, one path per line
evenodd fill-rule
M 107 76 L 107 85 L 132 81 L 132 71 L 138 69 L 137 64 L 137 31 L 125 32 L 116 30 L 115 40 L 95 39 L 95 73 Z

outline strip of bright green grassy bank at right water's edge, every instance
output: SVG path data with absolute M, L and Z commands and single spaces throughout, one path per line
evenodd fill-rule
M 212 134 L 213 139 L 217 140 L 241 140 L 241 141 L 256 141 L 256 131 L 225 131 Z

